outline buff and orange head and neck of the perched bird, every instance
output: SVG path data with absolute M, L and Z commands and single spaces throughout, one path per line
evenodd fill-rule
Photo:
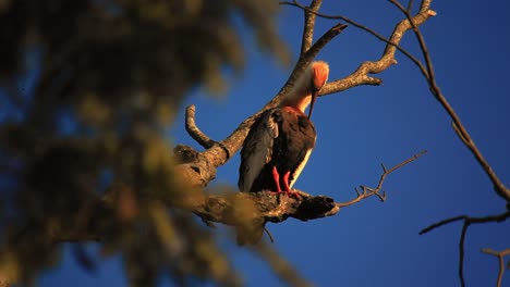
M 324 61 L 312 62 L 295 82 L 294 88 L 282 100 L 282 105 L 293 107 L 304 113 L 309 107 L 308 118 L 312 116 L 315 100 L 320 88 L 328 80 L 329 65 Z

